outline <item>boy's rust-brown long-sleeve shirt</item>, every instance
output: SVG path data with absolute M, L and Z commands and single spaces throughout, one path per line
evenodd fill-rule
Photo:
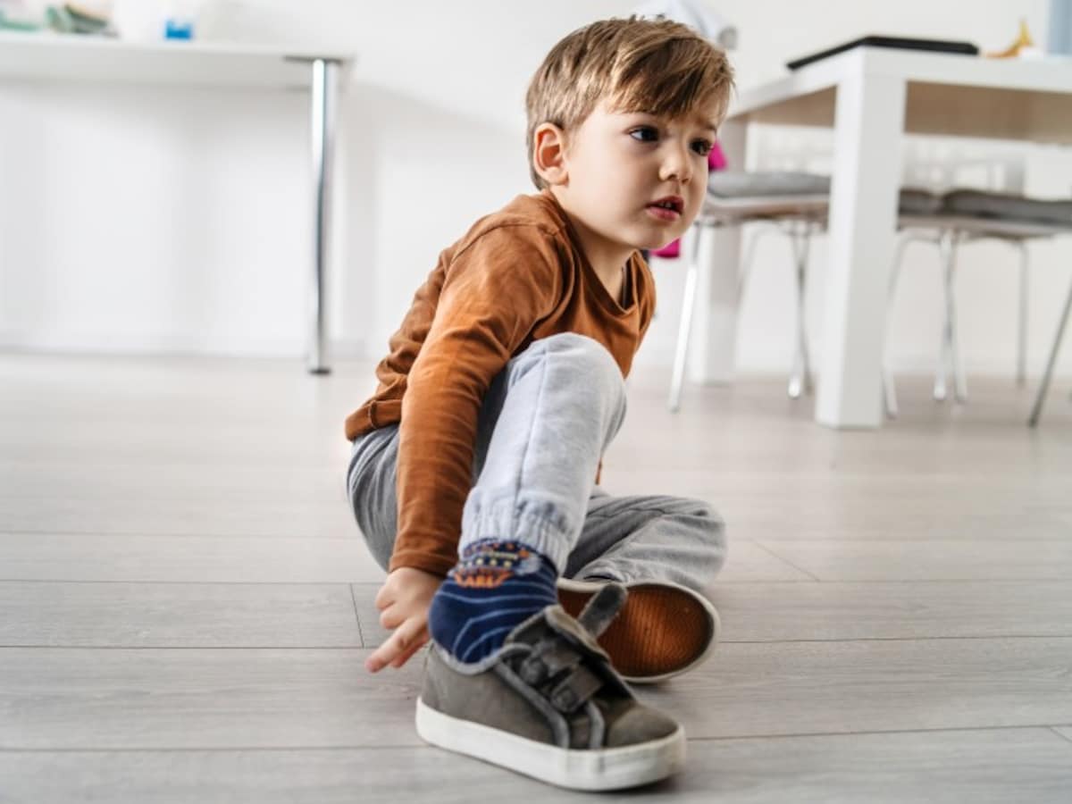
M 510 358 L 533 341 L 577 332 L 629 373 L 655 286 L 638 253 L 626 270 L 622 307 L 547 191 L 518 196 L 440 255 L 376 368 L 376 392 L 346 418 L 351 441 L 400 422 L 391 569 L 446 575 L 457 563 L 480 403 Z

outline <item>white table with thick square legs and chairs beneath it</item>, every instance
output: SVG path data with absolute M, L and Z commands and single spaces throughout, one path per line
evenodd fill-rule
M 816 420 L 882 422 L 880 364 L 896 234 L 903 132 L 1072 143 L 1072 61 L 988 60 L 857 48 L 741 92 L 719 142 L 745 164 L 749 122 L 834 128 L 830 263 Z M 740 232 L 701 243 L 699 337 L 691 373 L 733 373 Z

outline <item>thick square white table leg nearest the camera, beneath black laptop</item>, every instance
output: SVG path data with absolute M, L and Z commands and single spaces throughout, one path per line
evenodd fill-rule
M 862 68 L 837 88 L 815 410 L 816 421 L 828 427 L 882 423 L 882 322 L 896 237 L 905 94 L 903 79 Z

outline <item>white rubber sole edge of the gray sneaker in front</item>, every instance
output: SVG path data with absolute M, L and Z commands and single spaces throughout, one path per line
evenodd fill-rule
M 641 745 L 570 750 L 445 715 L 418 698 L 417 733 L 440 748 L 574 790 L 637 787 L 685 765 L 685 731 L 680 726 L 669 736 Z

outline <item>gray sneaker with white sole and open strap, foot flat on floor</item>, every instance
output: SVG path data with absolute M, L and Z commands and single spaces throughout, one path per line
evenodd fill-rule
M 665 778 L 685 763 L 685 731 L 637 701 L 596 637 L 625 601 L 602 586 L 578 620 L 548 606 L 480 662 L 428 653 L 417 733 L 540 781 L 614 790 Z

